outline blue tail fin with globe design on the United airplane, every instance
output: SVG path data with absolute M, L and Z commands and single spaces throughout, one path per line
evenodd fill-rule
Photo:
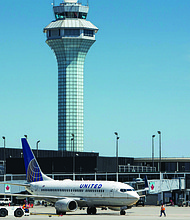
M 42 173 L 26 138 L 21 138 L 27 182 L 52 180 Z

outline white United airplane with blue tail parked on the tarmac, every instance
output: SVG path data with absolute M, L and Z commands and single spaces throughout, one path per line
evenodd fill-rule
M 120 182 L 53 180 L 41 171 L 27 140 L 22 138 L 21 141 L 27 183 L 12 185 L 24 186 L 32 194 L 24 195 L 25 198 L 32 197 L 53 203 L 58 215 L 74 212 L 82 207 L 87 207 L 87 214 L 96 214 L 96 208 L 108 207 L 125 215 L 125 210 L 140 198 L 131 186 Z M 22 194 L 6 195 L 23 198 Z

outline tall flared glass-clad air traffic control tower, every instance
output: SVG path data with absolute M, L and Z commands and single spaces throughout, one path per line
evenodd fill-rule
M 53 10 L 56 20 L 44 32 L 58 63 L 58 150 L 83 151 L 83 69 L 98 28 L 86 20 L 89 7 L 77 0 Z

